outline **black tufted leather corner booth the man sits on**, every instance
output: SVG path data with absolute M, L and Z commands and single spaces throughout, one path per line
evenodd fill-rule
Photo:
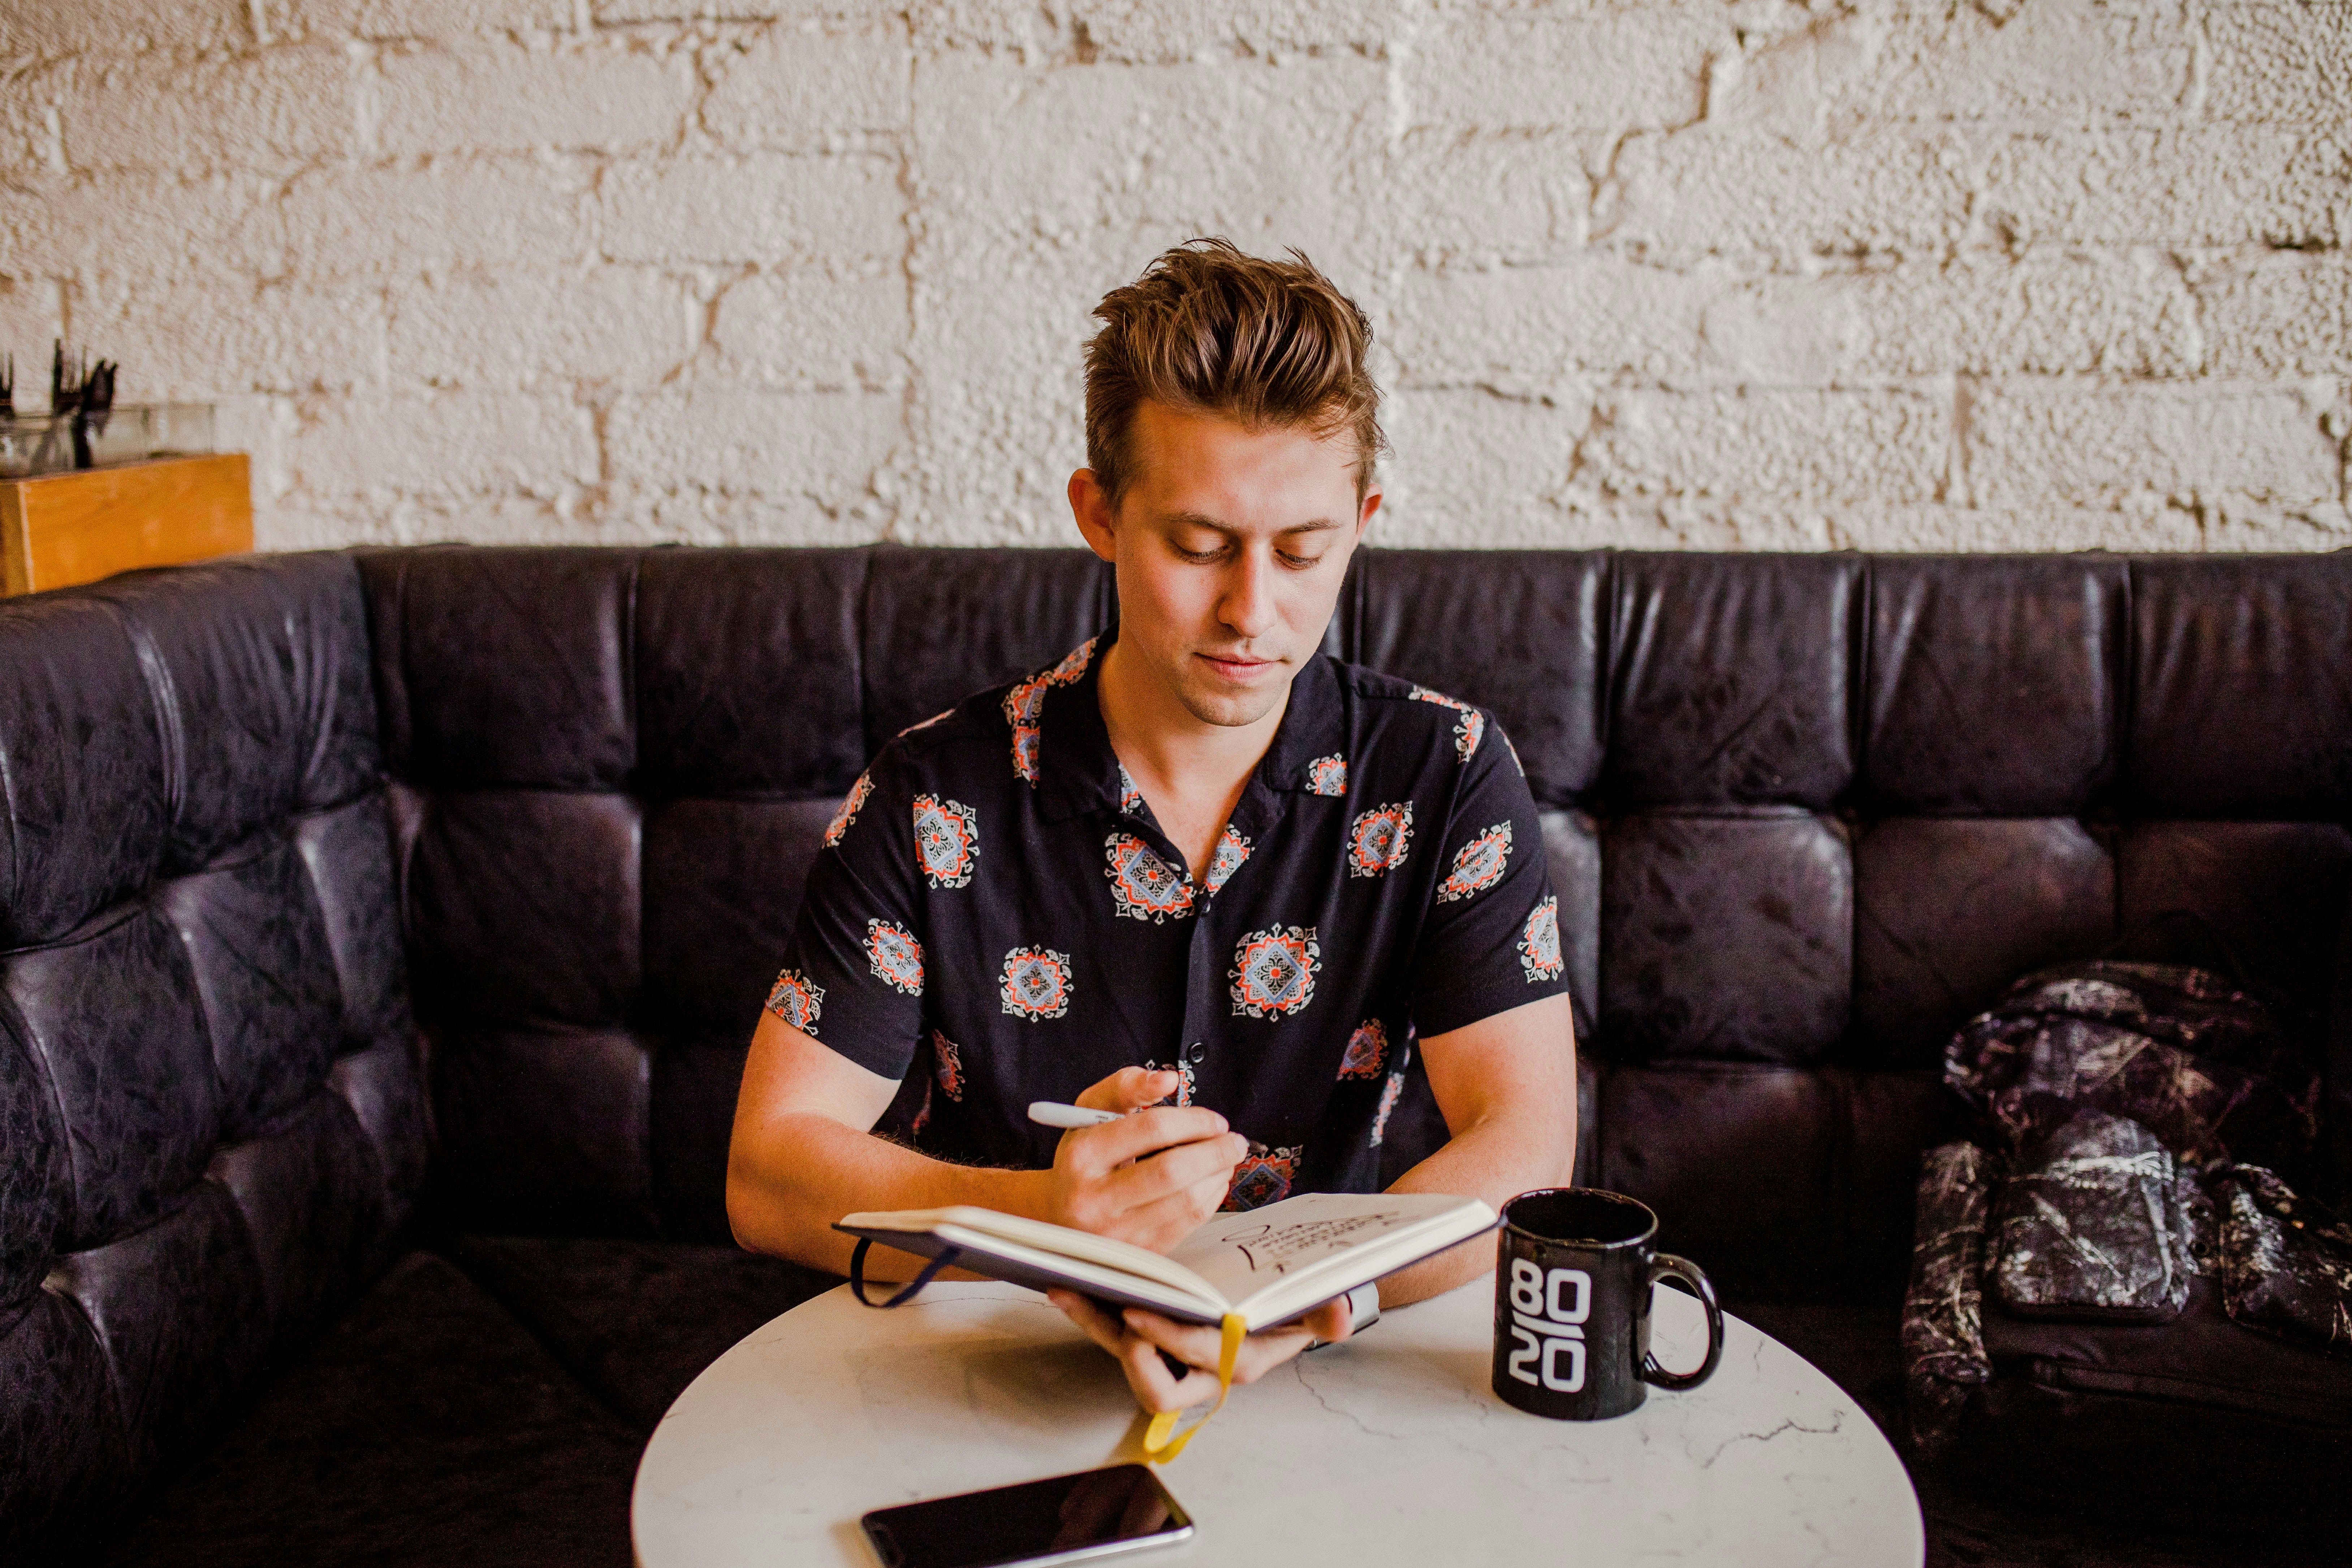
M 0 607 L 0 1556 L 628 1561 L 661 1408 L 826 1284 L 722 1175 L 837 797 L 1110 614 L 901 548 Z M 2338 555 L 1371 550 L 1331 630 L 1524 759 L 1583 1178 L 1856 1387 L 1999 987 L 2194 910 L 2328 1006 L 2347 642 Z

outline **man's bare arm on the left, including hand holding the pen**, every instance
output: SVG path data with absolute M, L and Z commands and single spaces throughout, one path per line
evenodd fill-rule
M 1176 1074 L 1127 1067 L 1077 1103 L 1136 1114 L 1063 1133 L 1049 1171 L 955 1166 L 868 1131 L 896 1091 L 891 1079 L 762 1013 L 727 1150 L 736 1241 L 847 1274 L 856 1239 L 833 1229 L 844 1213 L 978 1204 L 1167 1251 L 1216 1213 L 1247 1147 L 1211 1110 L 1141 1110 L 1176 1093 Z M 868 1262 L 877 1279 L 906 1279 L 917 1267 L 889 1248 Z

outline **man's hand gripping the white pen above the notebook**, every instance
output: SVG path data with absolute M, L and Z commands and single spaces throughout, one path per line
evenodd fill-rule
M 1061 1135 L 1042 1218 L 1164 1253 L 1216 1213 L 1249 1140 L 1214 1110 L 1160 1105 L 1178 1084 L 1122 1067 L 1077 1095 L 1122 1117 Z

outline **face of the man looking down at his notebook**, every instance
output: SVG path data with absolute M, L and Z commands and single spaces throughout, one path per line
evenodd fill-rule
M 1070 508 L 1120 574 L 1120 646 L 1202 724 L 1254 724 L 1315 658 L 1381 494 L 1355 496 L 1355 437 L 1249 430 L 1157 402 L 1129 430 L 1117 517 L 1091 470 Z

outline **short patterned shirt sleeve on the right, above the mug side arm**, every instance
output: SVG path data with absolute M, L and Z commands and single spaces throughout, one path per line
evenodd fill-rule
M 1536 797 L 1494 715 L 1484 736 L 1463 762 L 1439 839 L 1437 886 L 1414 947 L 1421 1037 L 1569 990 Z

